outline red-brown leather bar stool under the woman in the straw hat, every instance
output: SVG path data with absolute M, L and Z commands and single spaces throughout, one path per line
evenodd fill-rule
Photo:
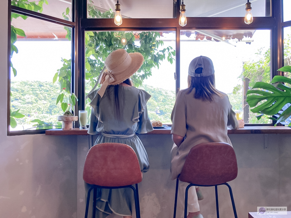
M 88 151 L 83 171 L 83 179 L 92 185 L 88 190 L 85 218 L 88 217 L 90 193 L 93 189 L 93 218 L 96 212 L 98 188 L 131 188 L 134 192 L 136 217 L 140 218 L 139 191 L 137 183 L 143 174 L 139 160 L 132 147 L 120 143 L 96 144 Z M 135 184 L 135 188 L 133 186 Z

